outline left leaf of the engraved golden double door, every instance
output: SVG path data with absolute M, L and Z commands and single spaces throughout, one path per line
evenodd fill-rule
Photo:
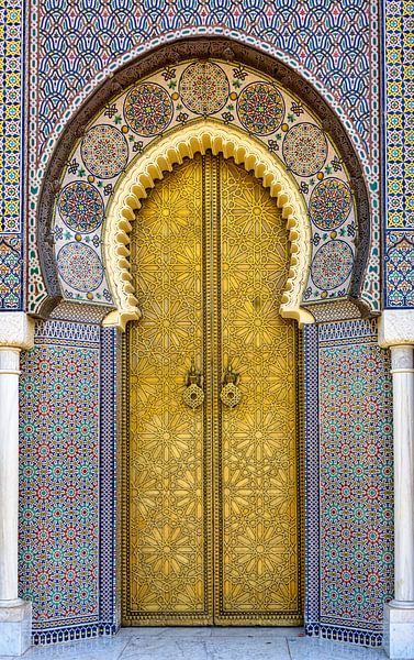
M 201 190 L 197 157 L 152 190 L 132 233 L 143 318 L 126 336 L 124 625 L 212 623 L 209 422 L 182 398 L 209 332 Z

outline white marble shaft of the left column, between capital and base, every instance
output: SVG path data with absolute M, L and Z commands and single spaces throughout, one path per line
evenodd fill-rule
M 19 358 L 0 346 L 0 605 L 18 602 Z

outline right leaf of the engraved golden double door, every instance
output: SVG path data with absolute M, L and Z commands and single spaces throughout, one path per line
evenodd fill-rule
M 221 160 L 219 373 L 240 403 L 219 406 L 215 436 L 215 623 L 302 620 L 296 329 L 279 314 L 288 235 L 261 183 Z

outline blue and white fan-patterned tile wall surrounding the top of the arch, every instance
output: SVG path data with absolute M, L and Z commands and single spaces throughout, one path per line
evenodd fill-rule
M 35 245 L 42 174 L 76 108 L 110 72 L 175 38 L 225 35 L 301 72 L 340 117 L 369 184 L 373 245 L 365 295 L 379 308 L 379 7 L 377 0 L 69 0 L 31 6 L 27 221 L 30 309 L 45 288 Z M 70 36 L 69 36 L 70 35 Z M 58 53 L 58 55 L 57 55 Z

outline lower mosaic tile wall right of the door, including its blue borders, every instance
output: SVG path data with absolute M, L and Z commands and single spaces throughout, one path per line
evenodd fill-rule
M 362 320 L 306 328 L 305 354 L 306 631 L 379 646 L 393 592 L 389 355 Z

